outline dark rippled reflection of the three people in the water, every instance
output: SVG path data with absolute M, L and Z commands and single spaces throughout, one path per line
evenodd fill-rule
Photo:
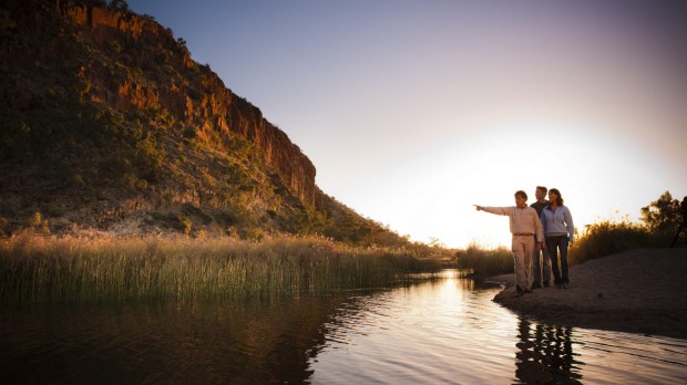
M 522 384 L 582 384 L 573 372 L 574 360 L 568 327 L 535 325 L 521 318 L 515 346 L 515 377 Z

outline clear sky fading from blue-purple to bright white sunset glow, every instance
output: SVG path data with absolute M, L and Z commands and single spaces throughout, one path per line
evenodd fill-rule
M 129 0 L 413 241 L 510 246 L 524 190 L 577 231 L 687 196 L 687 2 Z

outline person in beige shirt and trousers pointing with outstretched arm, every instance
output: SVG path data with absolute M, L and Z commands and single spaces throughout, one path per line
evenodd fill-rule
M 515 207 L 484 207 L 474 205 L 478 211 L 486 211 L 500 216 L 509 216 L 511 219 L 511 233 L 513 233 L 511 250 L 515 259 L 515 293 L 517 296 L 531 293 L 530 273 L 532 253 L 542 248 L 542 222 L 536 210 L 527 207 L 527 194 L 523 190 L 515 192 Z

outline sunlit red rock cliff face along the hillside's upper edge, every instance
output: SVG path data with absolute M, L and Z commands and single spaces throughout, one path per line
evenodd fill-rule
M 157 81 L 145 74 L 116 69 L 103 75 L 102 69 L 84 66 L 79 76 L 93 84 L 89 94 L 92 102 L 130 112 L 166 110 L 177 125 L 192 127 L 199 135 L 214 131 L 223 142 L 228 142 L 232 134 L 239 135 L 262 150 L 267 165 L 294 195 L 304 202 L 316 205 L 316 170 L 308 157 L 283 131 L 265 119 L 260 110 L 226 89 L 208 66 L 194 63 L 188 51 L 174 41 L 171 31 L 148 17 L 106 8 L 76 7 L 69 9 L 66 14 L 96 41 L 106 43 L 125 34 L 139 42 L 164 44 L 175 53 L 161 64 L 170 67 L 165 72 L 167 77 Z M 161 61 L 146 54 L 137 52 L 137 60 L 141 63 Z

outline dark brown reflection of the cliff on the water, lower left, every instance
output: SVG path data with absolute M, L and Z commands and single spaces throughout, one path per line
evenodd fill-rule
M 3 310 L 0 382 L 306 382 L 340 296 Z

